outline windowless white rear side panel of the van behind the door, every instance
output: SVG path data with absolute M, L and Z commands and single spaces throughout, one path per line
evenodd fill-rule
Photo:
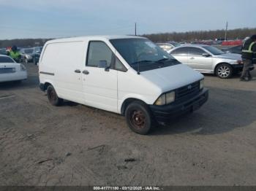
M 40 82 L 51 83 L 60 98 L 84 104 L 82 74 L 75 72 L 84 63 L 84 52 L 84 42 L 47 44 L 39 64 Z

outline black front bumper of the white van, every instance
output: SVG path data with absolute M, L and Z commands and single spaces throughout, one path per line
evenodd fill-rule
M 182 114 L 187 114 L 199 109 L 208 100 L 208 89 L 203 88 L 197 95 L 187 99 L 181 103 L 167 105 L 167 106 L 156 106 L 150 105 L 152 114 L 155 120 L 160 124 L 165 124 L 171 119 L 178 117 Z

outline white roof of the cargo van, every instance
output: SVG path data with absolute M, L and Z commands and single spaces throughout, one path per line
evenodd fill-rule
M 62 38 L 62 39 L 53 39 L 48 41 L 47 43 L 53 42 L 71 42 L 71 41 L 84 41 L 84 40 L 106 40 L 106 39 L 146 39 L 142 36 L 78 36 L 78 37 L 71 37 L 71 38 Z

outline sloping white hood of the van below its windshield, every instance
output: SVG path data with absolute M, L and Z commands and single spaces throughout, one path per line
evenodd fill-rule
M 202 74 L 184 64 L 143 71 L 140 75 L 154 85 L 157 85 L 162 90 L 162 93 L 203 79 Z

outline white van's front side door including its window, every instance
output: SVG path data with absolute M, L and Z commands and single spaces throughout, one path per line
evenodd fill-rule
M 86 105 L 117 112 L 117 72 L 110 69 L 115 60 L 105 42 L 91 41 L 82 71 Z

